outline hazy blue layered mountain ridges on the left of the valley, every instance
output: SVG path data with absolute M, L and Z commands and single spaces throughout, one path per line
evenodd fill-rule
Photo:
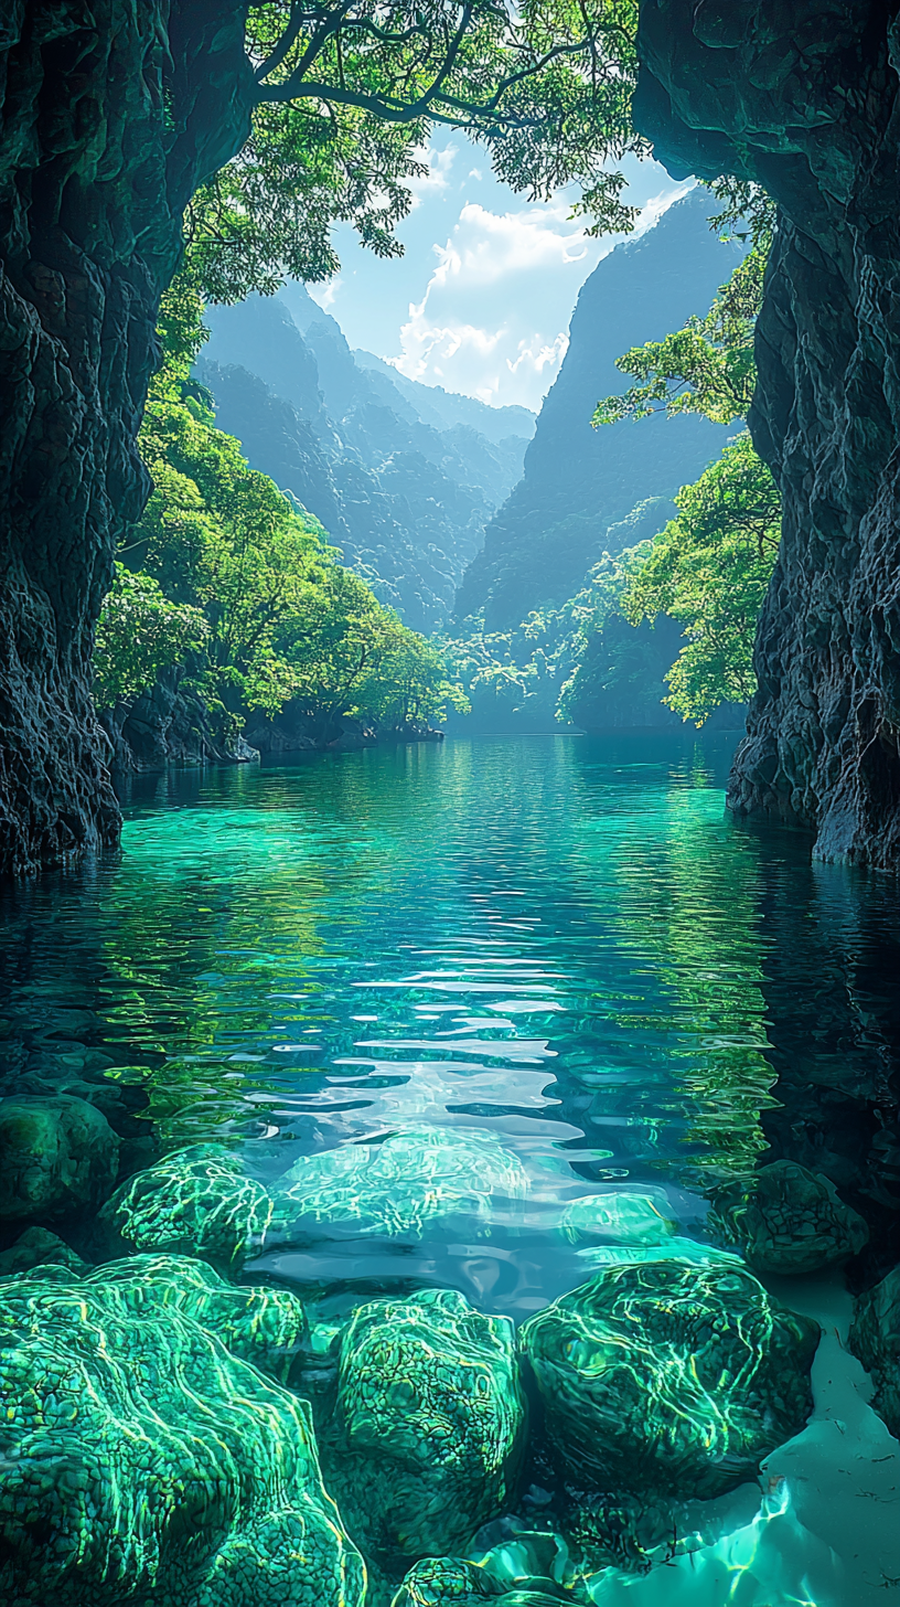
M 534 415 L 436 395 L 350 352 L 299 284 L 211 307 L 207 321 L 196 374 L 220 429 L 408 625 L 445 625 L 487 521 L 521 476 Z

